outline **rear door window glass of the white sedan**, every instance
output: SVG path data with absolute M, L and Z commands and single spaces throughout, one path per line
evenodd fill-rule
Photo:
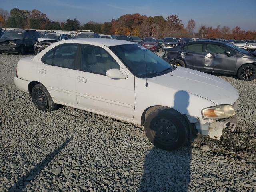
M 48 65 L 75 69 L 77 52 L 77 44 L 63 44 L 57 46 L 53 50 L 48 51 L 42 57 L 42 62 Z

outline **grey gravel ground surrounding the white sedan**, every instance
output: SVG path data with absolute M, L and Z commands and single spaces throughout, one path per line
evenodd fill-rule
M 158 53 L 158 54 L 161 54 Z M 256 80 L 221 76 L 240 93 L 238 128 L 167 152 L 144 128 L 63 106 L 41 112 L 0 55 L 0 191 L 256 191 Z

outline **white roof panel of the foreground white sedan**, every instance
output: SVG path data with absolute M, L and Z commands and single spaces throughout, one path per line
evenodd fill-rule
M 80 38 L 80 39 L 69 39 L 63 41 L 63 43 L 81 43 L 81 44 L 95 44 L 101 46 L 116 46 L 116 45 L 125 45 L 125 44 L 136 44 L 131 41 L 124 41 L 124 40 L 116 40 L 116 39 L 108 39 L 108 38 Z

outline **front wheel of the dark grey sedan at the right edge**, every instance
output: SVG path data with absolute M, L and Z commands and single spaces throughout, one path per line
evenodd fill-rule
M 251 81 L 256 78 L 256 66 L 253 64 L 244 64 L 238 71 L 237 76 L 240 80 Z

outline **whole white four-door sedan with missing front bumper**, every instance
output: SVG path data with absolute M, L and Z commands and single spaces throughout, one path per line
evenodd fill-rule
M 221 78 L 172 66 L 139 44 L 113 39 L 56 42 L 19 60 L 14 82 L 42 111 L 58 104 L 144 125 L 165 150 L 196 134 L 235 128 L 238 91 Z

